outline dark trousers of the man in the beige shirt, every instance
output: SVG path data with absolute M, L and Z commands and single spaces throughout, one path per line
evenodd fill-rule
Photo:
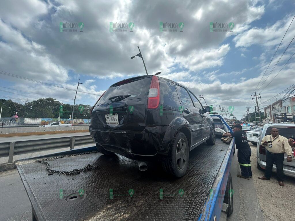
M 273 163 L 275 163 L 277 168 L 277 180 L 284 181 L 283 161 L 284 153 L 273 154 L 269 151 L 266 151 L 266 168 L 264 176 L 268 179 L 271 178 Z

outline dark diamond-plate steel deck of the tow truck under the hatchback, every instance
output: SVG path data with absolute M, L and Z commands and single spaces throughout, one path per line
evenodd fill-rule
M 89 163 L 99 167 L 72 176 L 48 176 L 45 165 L 35 162 L 42 158 L 16 164 L 39 220 L 197 220 L 227 148 L 219 140 L 214 146 L 196 147 L 189 152 L 188 171 L 180 179 L 159 167 L 140 172 L 137 161 L 100 153 L 48 161 L 55 170 L 80 169 Z M 80 189 L 82 197 L 70 200 Z

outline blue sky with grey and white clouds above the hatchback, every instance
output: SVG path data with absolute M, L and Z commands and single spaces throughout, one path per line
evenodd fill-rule
M 295 83 L 295 56 L 281 70 L 295 50 L 294 15 L 293 0 L 1 1 L 0 98 L 73 103 L 80 78 L 77 103 L 94 105 L 113 83 L 145 75 L 141 59 L 130 59 L 139 45 L 149 74 L 162 72 L 208 105 L 234 106 L 240 119 L 254 109 L 255 90 L 263 107 Z M 83 22 L 83 32 L 60 32 L 60 22 Z M 133 32 L 110 32 L 110 22 L 133 22 Z M 160 22 L 183 22 L 183 32 L 160 32 Z M 210 22 L 234 27 L 210 32 Z

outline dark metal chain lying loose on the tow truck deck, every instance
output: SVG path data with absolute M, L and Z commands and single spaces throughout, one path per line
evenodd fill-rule
M 61 170 L 53 170 L 49 168 L 49 163 L 45 162 L 47 160 L 53 160 L 53 159 L 58 159 L 58 158 L 64 158 L 64 157 L 69 157 L 69 156 L 78 156 L 78 155 L 83 155 L 83 154 L 92 154 L 92 153 L 97 153 L 98 151 L 92 151 L 92 152 L 86 152 L 86 153 L 81 153 L 81 154 L 72 154 L 72 155 L 66 155 L 66 156 L 56 156 L 56 157 L 51 157 L 51 158 L 46 158 L 42 160 L 36 160 L 38 163 L 46 164 L 46 170 L 49 171 L 50 173 L 58 173 L 58 174 L 65 174 L 65 175 L 73 175 L 73 174 L 79 174 L 81 171 L 85 170 L 90 170 L 90 169 L 97 169 L 97 166 L 92 166 L 92 164 L 87 164 L 87 166 L 84 166 L 81 169 L 73 169 L 71 171 L 61 171 Z

